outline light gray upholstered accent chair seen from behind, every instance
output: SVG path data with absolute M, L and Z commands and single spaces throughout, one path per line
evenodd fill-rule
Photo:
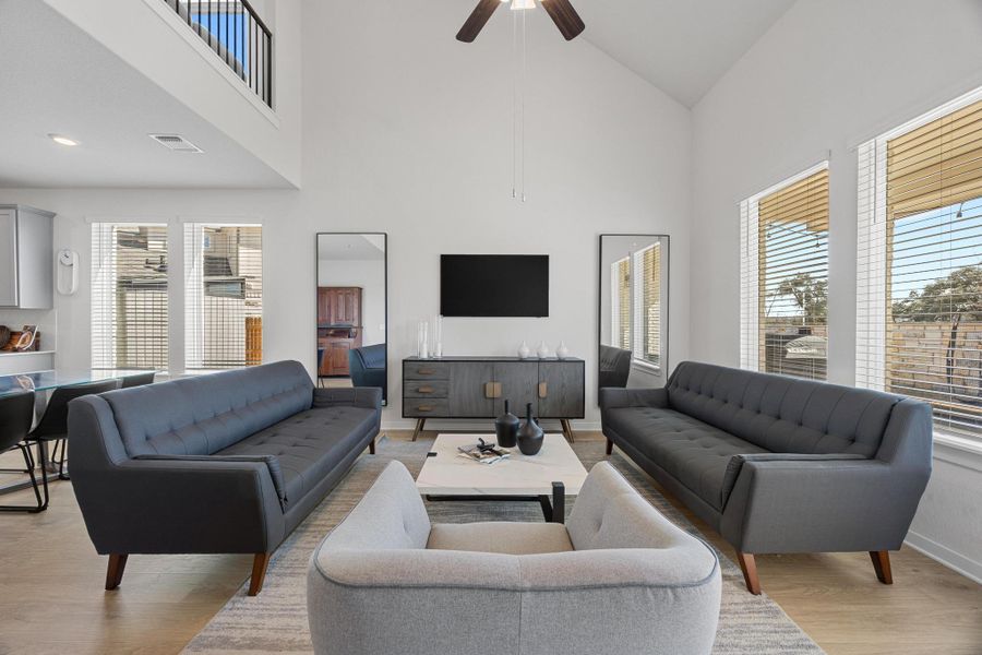
M 391 463 L 308 574 L 320 655 L 705 654 L 719 561 L 614 468 L 590 472 L 567 524 L 431 524 Z

